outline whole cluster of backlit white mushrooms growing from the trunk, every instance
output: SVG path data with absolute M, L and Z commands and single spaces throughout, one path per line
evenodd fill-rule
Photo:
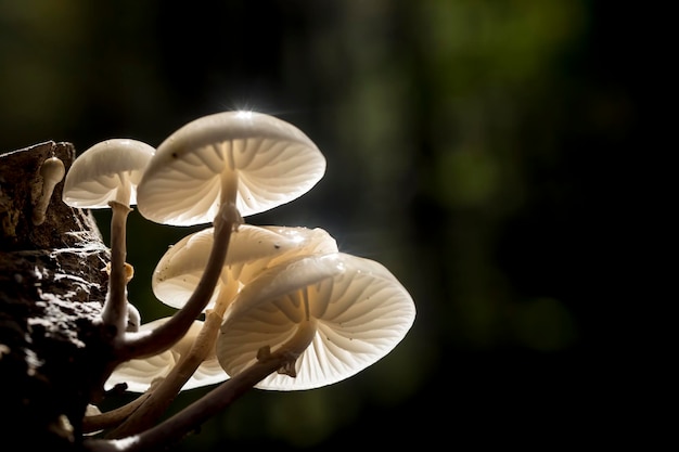
M 320 228 L 244 220 L 307 193 L 325 164 L 295 126 L 245 111 L 193 120 L 155 148 L 106 140 L 75 160 L 63 201 L 113 209 L 101 321 L 112 332 L 115 359 L 103 387 L 125 385 L 144 395 L 131 414 L 107 425 L 115 427 L 107 438 L 151 431 L 183 389 L 219 385 L 215 391 L 232 393 L 335 384 L 405 337 L 415 307 L 384 266 L 342 253 Z M 140 327 L 129 327 L 136 309 L 127 299 L 132 205 L 152 222 L 205 225 L 170 246 L 153 273 L 154 295 L 177 311 Z M 215 410 L 215 403 L 197 406 L 191 416 Z

